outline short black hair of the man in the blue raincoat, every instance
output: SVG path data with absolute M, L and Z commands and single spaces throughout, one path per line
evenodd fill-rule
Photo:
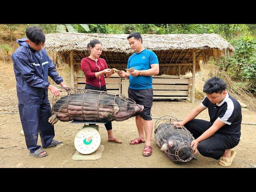
M 26 28 L 26 36 L 33 43 L 39 45 L 45 42 L 45 35 L 41 28 L 36 26 L 29 26 Z

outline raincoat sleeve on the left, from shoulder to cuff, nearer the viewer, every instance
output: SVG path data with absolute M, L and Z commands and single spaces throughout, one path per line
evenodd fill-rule
M 44 81 L 40 77 L 36 76 L 36 72 L 28 60 L 28 57 L 25 53 L 20 53 L 20 55 L 16 56 L 17 68 L 22 75 L 22 78 L 32 87 L 37 88 L 48 88 L 50 83 Z

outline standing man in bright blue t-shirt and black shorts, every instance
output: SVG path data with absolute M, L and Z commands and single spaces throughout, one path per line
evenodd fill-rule
M 130 47 L 135 52 L 128 59 L 127 69 L 134 68 L 134 72 L 118 72 L 120 77 L 129 79 L 128 97 L 137 104 L 144 106 L 140 115 L 136 116 L 136 126 L 138 138 L 130 142 L 131 145 L 144 143 L 144 131 L 146 134 L 146 144 L 143 155 L 152 154 L 151 136 L 153 130 L 150 110 L 153 104 L 152 75 L 159 73 L 159 64 L 156 54 L 147 50 L 142 45 L 142 37 L 138 32 L 133 32 L 127 37 Z

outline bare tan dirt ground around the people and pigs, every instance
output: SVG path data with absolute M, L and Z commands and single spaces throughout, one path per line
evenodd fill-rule
M 202 69 L 202 73 L 196 78 L 196 88 L 202 89 L 202 78 L 208 69 Z M 64 77 L 66 84 L 70 85 L 69 73 L 64 68 L 58 68 L 59 74 Z M 204 76 L 206 78 L 206 76 Z M 135 118 L 123 122 L 112 122 L 114 135 L 122 140 L 122 144 L 107 142 L 107 131 L 104 125 L 99 128 L 101 144 L 104 145 L 102 156 L 98 160 L 72 160 L 76 152 L 74 137 L 82 128 L 82 124 L 70 124 L 69 122 L 57 122 L 54 125 L 55 139 L 62 140 L 63 144 L 54 148 L 48 148 L 48 156 L 34 158 L 29 155 L 25 138 L 20 134 L 22 125 L 18 112 L 18 100 L 16 94 L 16 80 L 12 63 L 0 62 L 0 168 L 223 168 L 218 165 L 218 160 L 206 158 L 196 154 L 198 160 L 187 163 L 175 164 L 160 151 L 152 134 L 151 156 L 142 156 L 143 144 L 130 145 L 130 140 L 137 137 Z M 188 101 L 160 101 L 153 102 L 152 116 L 171 115 L 178 119 L 184 118 L 194 107 L 200 104 L 196 100 L 194 104 Z M 1 113 L 10 114 L 1 114 Z M 256 122 L 256 112 L 244 108 L 242 110 L 242 122 Z M 204 110 L 198 118 L 209 120 L 208 110 Z M 153 127 L 156 119 L 153 120 Z M 242 124 L 241 140 L 234 148 L 237 154 L 230 168 L 250 168 L 256 164 L 256 126 Z M 40 136 L 38 137 L 40 145 Z

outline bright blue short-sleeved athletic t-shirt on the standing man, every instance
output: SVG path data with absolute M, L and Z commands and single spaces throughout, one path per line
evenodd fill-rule
M 133 67 L 135 70 L 148 70 L 150 65 L 159 64 L 156 54 L 148 49 L 139 53 L 132 54 L 128 59 L 127 68 Z M 129 88 L 131 89 L 149 89 L 152 88 L 152 76 L 129 77 Z

